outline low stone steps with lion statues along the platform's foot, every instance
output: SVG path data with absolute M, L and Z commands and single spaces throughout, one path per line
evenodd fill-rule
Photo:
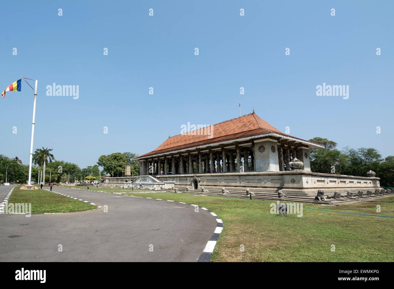
M 190 186 L 189 186 L 190 187 Z M 238 198 L 238 199 L 250 199 L 249 196 L 246 195 L 246 188 L 227 188 L 226 190 L 229 191 L 228 194 L 222 194 L 221 188 L 222 187 L 210 187 L 210 186 L 204 186 L 207 192 L 202 193 L 202 190 L 191 190 L 191 191 L 186 191 L 186 186 L 175 186 L 177 191 L 181 191 L 182 193 L 190 193 L 194 195 L 207 195 L 207 196 L 220 196 L 220 197 L 229 197 L 229 198 Z M 201 187 L 200 187 L 201 188 Z M 327 204 L 327 205 L 340 205 L 340 204 L 350 204 L 353 202 L 358 202 L 358 201 L 367 201 L 367 200 L 377 200 L 383 197 L 389 197 L 393 196 L 394 193 L 390 194 L 379 194 L 379 195 L 364 195 L 362 197 L 353 197 L 354 199 L 349 199 L 346 197 L 340 198 L 340 200 L 335 200 L 335 199 L 327 199 L 327 201 L 315 201 L 315 197 L 317 195 L 317 190 L 315 195 L 290 195 L 286 193 L 286 198 L 278 198 L 278 193 L 277 191 L 267 191 L 263 189 L 250 189 L 253 193 L 255 193 L 254 196 L 252 196 L 253 200 L 273 200 L 273 201 L 280 201 L 280 202 L 298 202 L 298 203 L 306 203 L 306 204 Z M 364 192 L 364 190 L 363 190 Z M 366 192 L 366 190 L 365 190 Z M 353 193 L 357 193 L 353 191 Z M 331 193 L 328 195 L 332 195 Z M 327 195 L 326 195 L 327 197 Z

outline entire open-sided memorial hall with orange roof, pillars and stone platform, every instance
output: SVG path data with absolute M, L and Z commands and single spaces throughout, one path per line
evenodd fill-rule
M 372 171 L 368 177 L 312 172 L 309 149 L 318 148 L 324 146 L 281 133 L 253 110 L 169 137 L 154 151 L 134 158 L 139 161 L 140 176 L 125 182 L 124 188 L 138 188 L 141 182 L 151 190 L 230 195 L 245 195 L 245 189 L 250 189 L 262 196 L 277 197 L 279 192 L 279 196 L 283 193 L 308 200 L 317 192 L 352 197 L 354 191 L 357 198 L 360 190 L 361 195 L 368 191 L 370 197 L 370 192 L 382 189 Z M 105 182 L 119 182 L 116 179 Z M 123 185 L 123 179 L 119 183 Z

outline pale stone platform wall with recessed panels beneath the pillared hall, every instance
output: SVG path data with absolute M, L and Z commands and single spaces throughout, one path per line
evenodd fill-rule
M 193 175 L 196 179 L 193 179 Z M 158 175 L 154 176 L 161 182 L 173 181 L 177 188 L 189 186 L 192 190 L 204 188 L 223 188 L 227 190 L 250 189 L 252 191 L 277 192 L 282 190 L 286 195 L 316 196 L 318 190 L 325 192 L 346 193 L 359 190 L 380 190 L 380 179 L 377 177 L 355 177 L 313 173 L 311 171 L 264 171 L 264 172 L 230 172 L 203 173 L 188 175 Z M 197 180 L 197 181 L 196 181 Z

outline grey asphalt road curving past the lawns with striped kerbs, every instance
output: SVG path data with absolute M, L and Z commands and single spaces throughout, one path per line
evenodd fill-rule
M 0 186 L 0 202 L 11 188 Z M 108 212 L 1 214 L 0 261 L 193 262 L 216 228 L 209 212 L 186 204 L 71 188 L 53 191 L 107 205 Z

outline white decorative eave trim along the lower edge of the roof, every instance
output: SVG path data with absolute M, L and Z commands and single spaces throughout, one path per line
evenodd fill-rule
M 243 142 L 244 140 L 252 140 L 253 138 L 262 138 L 262 137 L 266 137 L 266 136 L 275 136 L 277 138 L 284 138 L 286 140 L 300 142 L 302 144 L 307 144 L 307 145 L 310 146 L 311 149 L 320 149 L 320 148 L 323 149 L 324 148 L 324 145 L 319 145 L 319 144 L 315 144 L 313 142 L 308 142 L 307 140 L 299 140 L 298 138 L 292 138 L 290 136 L 284 136 L 282 134 L 277 134 L 277 133 L 267 133 L 267 134 L 259 134 L 257 136 L 248 136 L 247 138 L 238 138 L 236 140 L 227 140 L 225 142 L 217 142 L 217 143 L 214 143 L 214 144 L 200 145 L 198 147 L 188 147 L 187 149 L 180 149 L 178 151 L 169 151 L 167 153 L 160 153 L 160 154 L 157 154 L 157 155 L 143 156 L 141 158 L 133 158 L 133 160 L 140 160 L 140 159 L 143 159 L 143 158 L 151 159 L 151 158 L 154 158 L 156 156 L 169 155 L 169 154 L 173 154 L 173 153 L 179 153 L 179 152 L 182 152 L 182 151 L 191 151 L 191 150 L 196 150 L 196 149 L 202 149 L 202 148 L 205 148 L 205 147 L 212 147 L 214 145 L 229 144 L 229 143 L 232 143 L 232 142 Z

